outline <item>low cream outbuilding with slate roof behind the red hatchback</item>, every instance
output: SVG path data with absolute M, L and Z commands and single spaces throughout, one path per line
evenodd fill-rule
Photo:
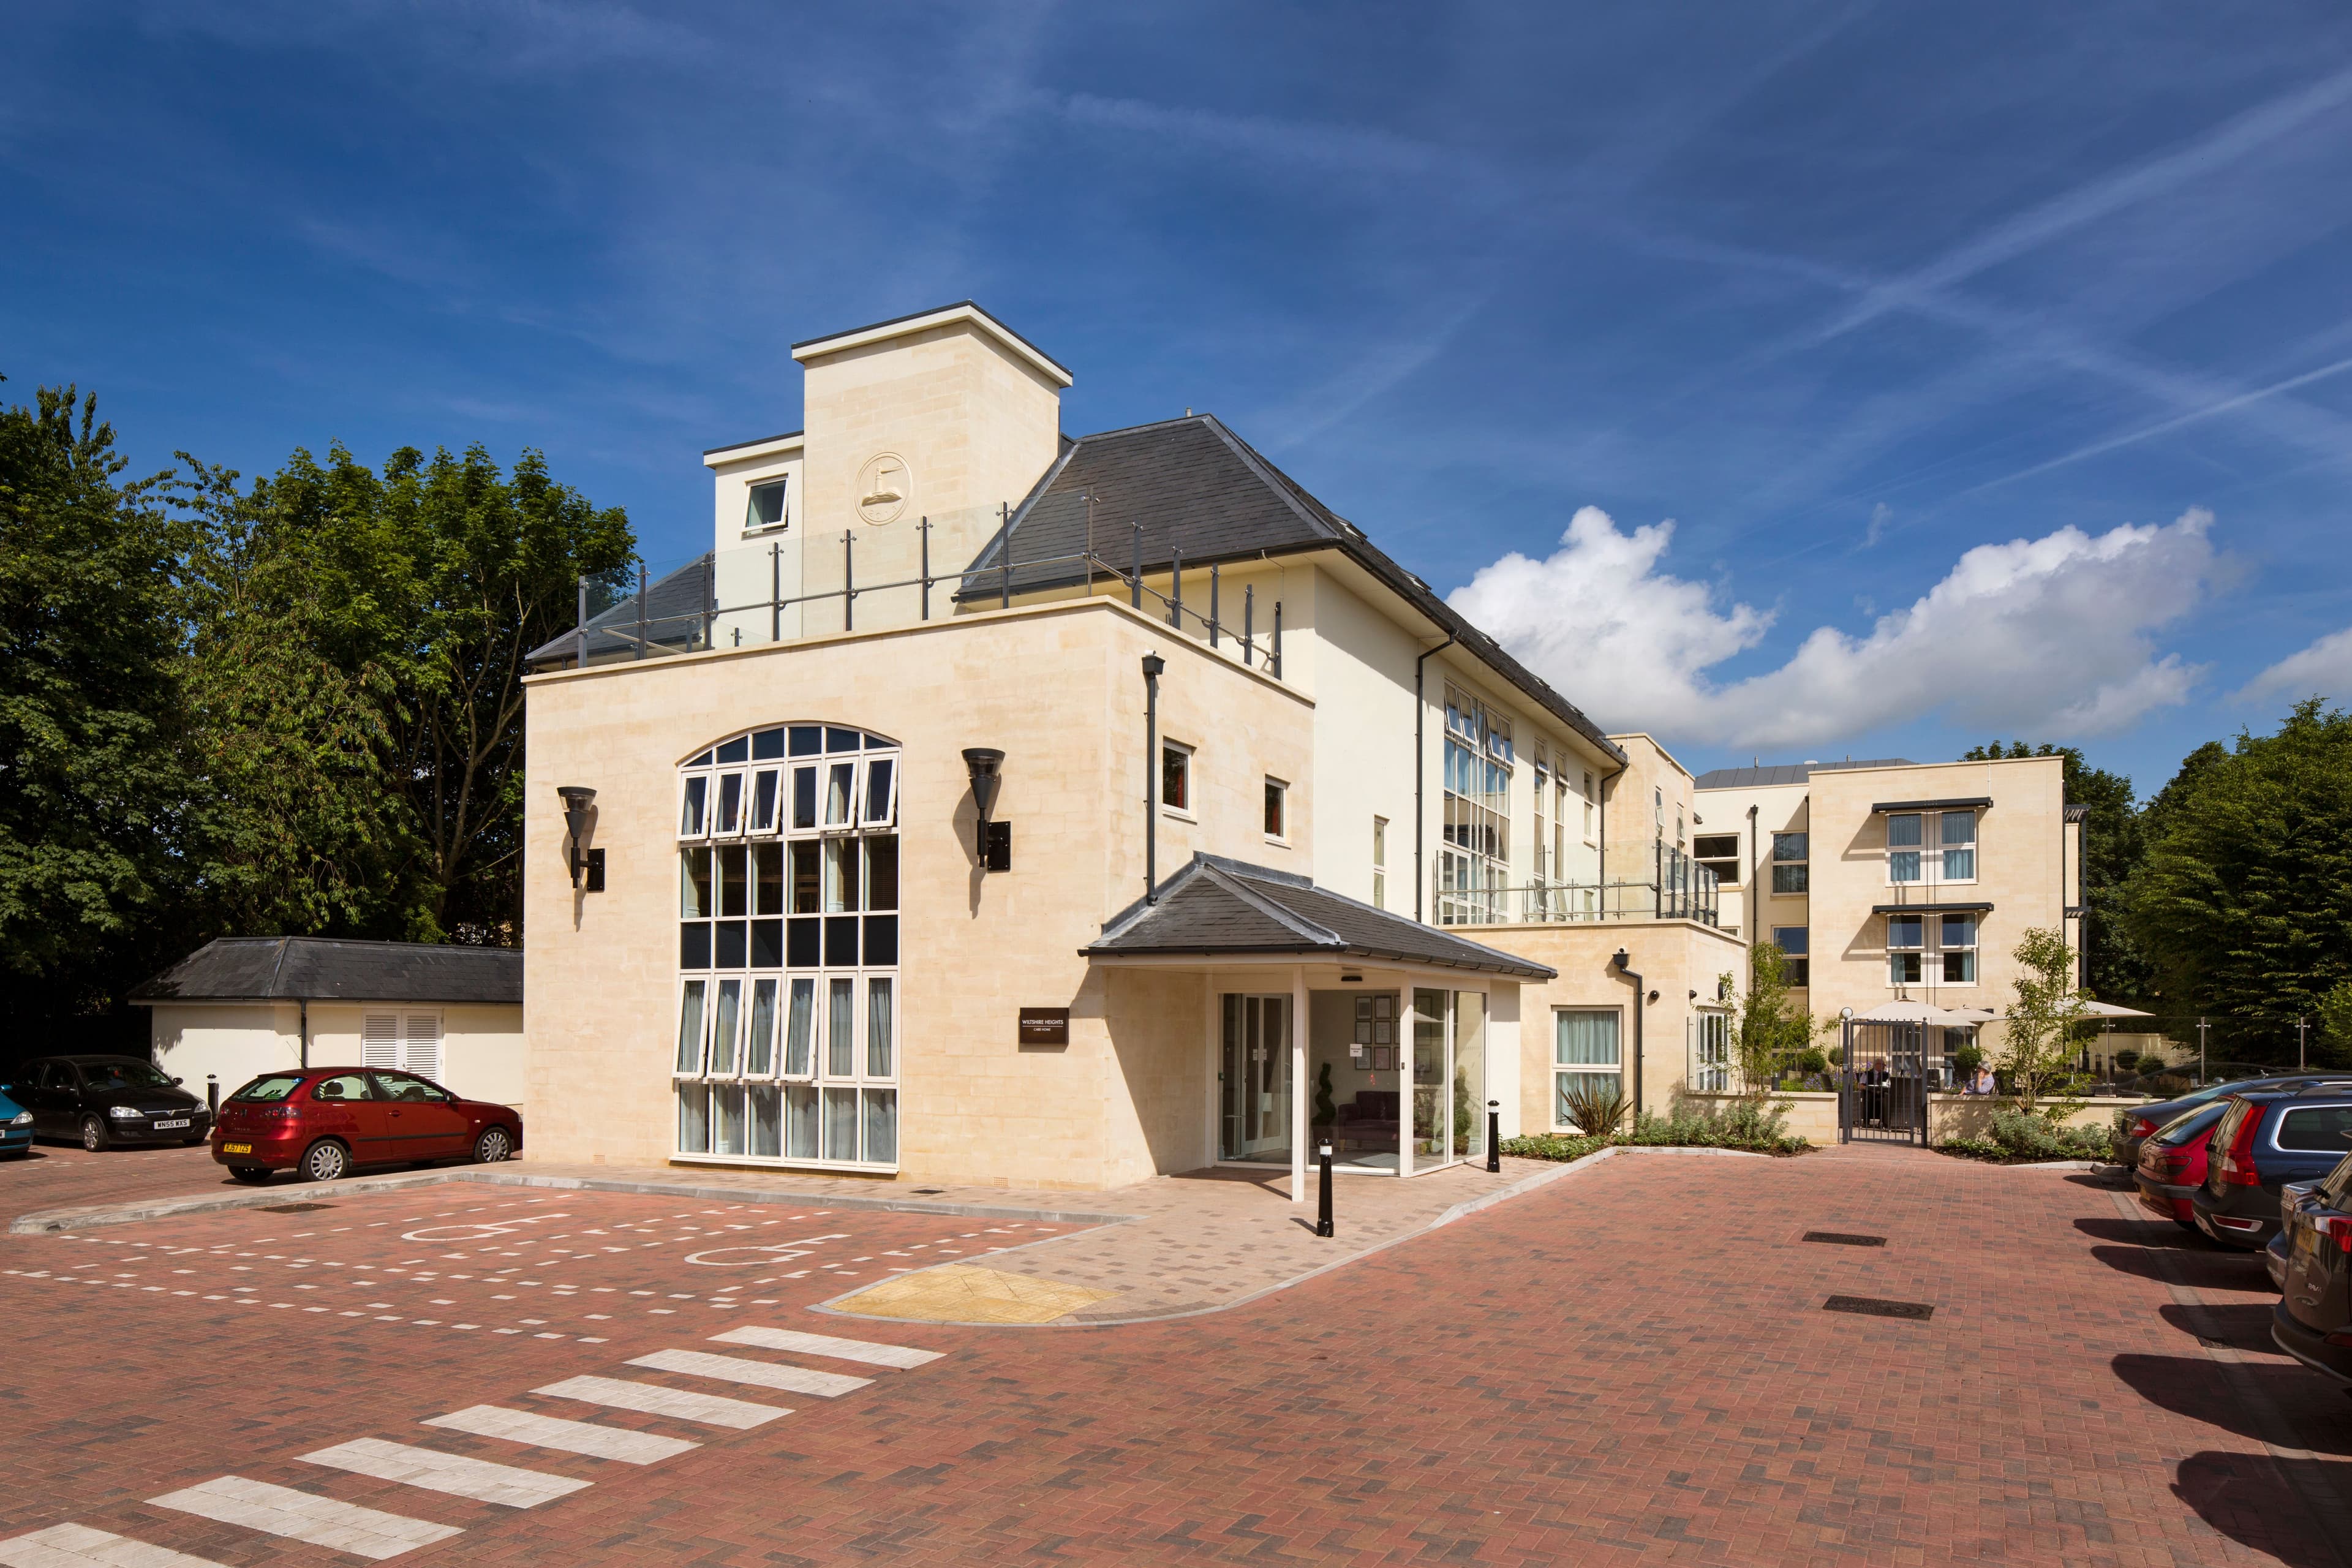
M 226 1098 L 287 1067 L 390 1067 L 524 1110 L 522 950 L 223 936 L 153 980 L 155 1065 Z

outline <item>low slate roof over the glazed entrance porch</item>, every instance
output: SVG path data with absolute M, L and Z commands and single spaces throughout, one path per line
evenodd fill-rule
M 1428 964 L 1550 980 L 1559 971 L 1458 938 L 1418 919 L 1319 889 L 1305 877 L 1195 853 L 1080 947 L 1084 957 L 1296 954 L 1369 964 Z

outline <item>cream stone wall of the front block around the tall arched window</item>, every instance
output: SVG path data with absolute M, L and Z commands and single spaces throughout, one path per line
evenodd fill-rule
M 1162 1168 L 1169 1150 L 1181 1152 L 1181 1100 L 1207 1081 L 1204 1058 L 1183 1060 L 1190 1027 L 1160 1013 L 1176 992 L 1110 987 L 1108 971 L 1089 971 L 1077 954 L 1143 893 L 1138 661 L 1152 649 L 1169 661 L 1162 724 L 1204 738 L 1195 820 L 1162 820 L 1162 875 L 1192 849 L 1312 875 L 1312 799 L 1294 802 L 1291 844 L 1270 846 L 1258 795 L 1265 773 L 1310 776 L 1312 703 L 1124 604 L 1051 604 L 534 677 L 524 795 L 532 1152 L 612 1164 L 670 1157 L 677 764 L 743 729 L 821 719 L 903 745 L 901 1173 L 1103 1187 Z M 1011 872 L 974 867 L 967 745 L 1007 752 L 995 816 L 1011 823 Z M 602 893 L 569 886 L 557 783 L 597 790 L 588 846 L 607 851 Z M 1021 1051 L 1021 1006 L 1068 1006 L 1070 1046 Z M 1141 1103 L 1136 1084 L 1148 1086 Z M 1167 1095 L 1178 1095 L 1174 1110 Z M 1195 1124 L 1195 1138 L 1204 1131 Z

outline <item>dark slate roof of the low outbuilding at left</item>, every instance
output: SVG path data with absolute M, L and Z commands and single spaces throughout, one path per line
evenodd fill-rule
M 506 1001 L 522 1006 L 520 947 L 223 936 L 132 990 L 158 1001 Z

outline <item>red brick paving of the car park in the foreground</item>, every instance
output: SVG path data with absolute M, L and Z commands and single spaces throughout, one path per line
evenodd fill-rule
M 473 1206 L 466 1197 L 440 1187 L 353 1208 L 440 1213 Z M 21 1208 L 64 1201 L 89 1194 Z M 503 1201 L 513 1190 L 475 1199 Z M 675 1225 L 687 1222 L 680 1211 L 722 1208 L 612 1194 L 560 1194 L 539 1208 L 583 1213 L 590 1201 L 607 1218 L 633 1213 L 626 1201 Z M 169 1232 L 191 1246 L 292 1234 L 296 1220 L 336 1213 L 202 1215 L 106 1234 Z M 927 1215 L 856 1215 L 840 1229 L 866 1253 L 882 1222 L 948 1229 Z M 1891 1244 L 1813 1246 L 1797 1239 L 1804 1229 Z M 306 1255 L 325 1258 L 313 1241 Z M 870 1324 L 781 1295 L 776 1307 L 715 1309 L 713 1288 L 675 1284 L 703 1274 L 680 1265 L 680 1251 L 562 1265 L 579 1267 L 581 1284 L 635 1272 L 703 1298 L 691 1333 L 680 1305 L 677 1319 L 626 1319 L 600 1335 L 609 1345 L 362 1328 L 334 1314 L 0 1276 L 0 1312 L 38 1347 L 0 1371 L 0 1533 L 73 1519 L 221 1563 L 329 1561 L 318 1547 L 139 1502 L 235 1472 L 466 1526 L 402 1563 L 2317 1568 L 2352 1540 L 2333 1512 L 2352 1495 L 2352 1401 L 2265 1352 L 2272 1298 L 2260 1260 L 2126 1218 L 2112 1192 L 2053 1171 L 1917 1152 L 1618 1159 L 1251 1307 L 1127 1328 Z M 0 1267 L 54 1269 L 61 1255 L 99 1253 L 89 1241 L 0 1241 Z M 259 1272 L 256 1260 L 235 1262 Z M 287 1288 L 289 1262 L 270 1265 Z M 219 1279 L 228 1262 L 207 1246 L 202 1265 L 172 1267 Z M 532 1276 L 550 1272 L 534 1260 Z M 440 1281 L 428 1288 L 452 1295 Z M 414 1281 L 402 1291 L 414 1295 Z M 1924 1300 L 1936 1316 L 1825 1314 L 1832 1293 Z M 405 1316 L 421 1312 L 397 1300 Z M 760 1399 L 621 1366 L 640 1345 L 701 1347 L 736 1321 L 953 1354 L 880 1373 L 837 1401 L 786 1396 L 795 1415 L 743 1434 L 524 1392 L 597 1373 Z M 569 1321 L 553 1328 L 579 1333 Z M 414 1425 L 475 1401 L 706 1446 L 635 1469 Z M 595 1486 L 513 1514 L 294 1462 L 353 1436 Z M 2265 1450 L 2265 1436 L 2288 1453 Z

